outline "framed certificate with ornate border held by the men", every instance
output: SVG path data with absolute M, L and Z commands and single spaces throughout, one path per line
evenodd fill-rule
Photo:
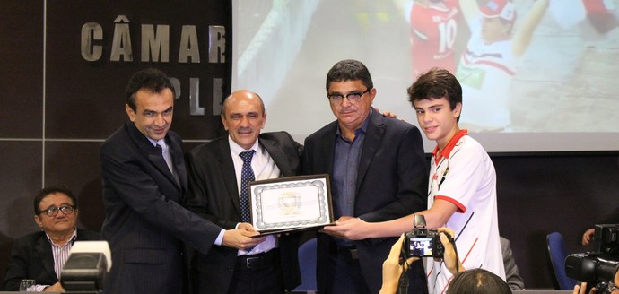
M 327 174 L 249 182 L 251 224 L 262 235 L 333 224 Z

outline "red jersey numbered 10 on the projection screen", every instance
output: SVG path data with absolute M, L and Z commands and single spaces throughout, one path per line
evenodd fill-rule
M 414 78 L 434 66 L 450 73 L 456 70 L 453 46 L 458 33 L 458 4 L 446 0 L 411 8 L 411 60 Z

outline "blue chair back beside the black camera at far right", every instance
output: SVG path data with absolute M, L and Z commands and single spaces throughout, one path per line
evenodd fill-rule
M 565 273 L 565 241 L 561 233 L 552 232 L 546 236 L 548 245 L 548 262 L 551 268 L 555 290 L 573 290 L 578 281 L 573 280 Z

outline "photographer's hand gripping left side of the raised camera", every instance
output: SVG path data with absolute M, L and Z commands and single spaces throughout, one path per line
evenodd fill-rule
M 382 287 L 380 288 L 380 294 L 396 293 L 402 272 L 408 271 L 408 266 L 419 260 L 419 257 L 411 257 L 404 264 L 400 263 L 400 253 L 402 252 L 404 238 L 404 234 L 402 234 L 397 242 L 391 246 L 391 251 L 382 264 Z

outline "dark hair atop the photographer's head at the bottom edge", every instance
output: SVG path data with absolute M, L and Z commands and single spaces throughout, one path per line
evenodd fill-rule
M 471 269 L 459 272 L 446 294 L 511 294 L 510 286 L 493 272 Z

